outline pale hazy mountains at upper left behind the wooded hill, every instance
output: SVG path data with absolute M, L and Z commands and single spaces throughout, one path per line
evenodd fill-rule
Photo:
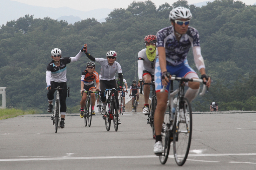
M 95 19 L 104 22 L 104 19 L 112 11 L 112 9 L 107 8 L 94 9 L 84 12 L 68 7 L 38 7 L 11 0 L 0 0 L 0 4 L 0 25 L 6 24 L 7 21 L 17 20 L 26 14 L 34 15 L 34 18 L 44 18 L 48 16 L 52 19 L 65 20 L 72 24 L 74 21 L 78 21 L 78 17 L 80 20 L 94 17 Z

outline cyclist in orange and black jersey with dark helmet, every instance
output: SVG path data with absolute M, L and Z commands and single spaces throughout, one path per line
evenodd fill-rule
M 82 72 L 82 76 L 81 76 L 81 95 L 83 93 L 83 91 L 98 91 L 99 87 L 100 87 L 100 81 L 99 81 L 99 74 L 95 71 L 95 63 L 92 61 L 87 62 L 86 64 L 87 69 L 84 70 Z M 95 84 L 94 84 L 94 80 L 96 81 L 96 89 L 95 89 Z M 94 111 L 94 105 L 95 105 L 95 93 L 91 94 L 91 98 L 92 98 L 92 110 L 93 113 L 95 114 Z M 87 95 L 84 94 L 82 96 L 82 99 L 80 101 L 80 117 L 83 118 L 83 112 L 84 112 L 84 107 L 85 107 L 85 103 L 86 103 L 86 99 L 87 99 Z

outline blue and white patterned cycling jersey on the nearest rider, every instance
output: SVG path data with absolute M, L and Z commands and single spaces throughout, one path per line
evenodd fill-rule
M 171 66 L 177 66 L 186 60 L 190 46 L 200 46 L 198 31 L 193 27 L 188 27 L 187 33 L 179 41 L 172 25 L 159 30 L 156 37 L 157 47 L 165 47 L 166 63 Z

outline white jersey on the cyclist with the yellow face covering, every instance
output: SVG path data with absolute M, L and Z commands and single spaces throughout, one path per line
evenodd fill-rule
M 158 56 L 158 50 L 156 48 L 156 58 L 153 61 L 154 65 L 153 68 L 151 66 L 151 61 L 149 61 L 147 54 L 146 54 L 146 48 L 141 50 L 138 53 L 138 76 L 139 76 L 139 80 L 142 79 L 142 75 L 143 75 L 143 71 L 146 70 L 149 73 L 151 73 L 152 75 L 154 75 L 155 72 L 155 65 L 156 65 L 156 58 Z

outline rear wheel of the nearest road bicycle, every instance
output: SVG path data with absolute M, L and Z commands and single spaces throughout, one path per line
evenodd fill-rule
M 163 153 L 162 155 L 159 156 L 159 160 L 161 162 L 161 164 L 165 164 L 167 159 L 168 159 L 168 155 L 169 155 L 169 151 L 170 151 L 170 144 L 171 144 L 171 140 L 170 140 L 170 125 L 165 126 L 165 128 L 162 129 L 161 135 L 162 135 L 162 143 L 163 143 Z

